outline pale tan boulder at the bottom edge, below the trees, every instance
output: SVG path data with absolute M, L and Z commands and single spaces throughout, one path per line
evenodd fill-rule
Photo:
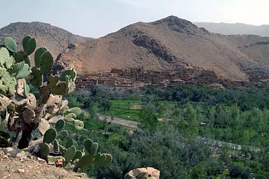
M 152 167 L 139 168 L 129 171 L 124 176 L 124 179 L 159 179 L 160 171 Z

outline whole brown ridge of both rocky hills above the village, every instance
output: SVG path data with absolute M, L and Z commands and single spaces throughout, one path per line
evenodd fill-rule
M 32 35 L 56 58 L 55 69 L 78 75 L 142 67 L 144 71 L 212 71 L 218 78 L 269 78 L 269 37 L 215 34 L 176 16 L 137 22 L 101 38 L 85 38 L 43 22 L 16 22 L 0 38 Z M 20 48 L 19 43 L 19 48 Z

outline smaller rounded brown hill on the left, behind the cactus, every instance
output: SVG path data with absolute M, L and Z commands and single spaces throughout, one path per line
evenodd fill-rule
M 38 46 L 48 48 L 54 57 L 57 57 L 70 43 L 84 43 L 92 39 L 71 34 L 67 30 L 43 22 L 16 22 L 0 29 L 0 40 L 11 36 L 19 43 L 21 49 L 22 38 L 27 35 L 36 38 Z

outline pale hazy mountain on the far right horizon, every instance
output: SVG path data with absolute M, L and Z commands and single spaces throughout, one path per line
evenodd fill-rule
M 269 25 L 250 25 L 250 24 L 228 24 L 228 23 L 212 23 L 212 22 L 195 22 L 198 27 L 203 27 L 208 31 L 224 35 L 258 35 L 269 36 Z

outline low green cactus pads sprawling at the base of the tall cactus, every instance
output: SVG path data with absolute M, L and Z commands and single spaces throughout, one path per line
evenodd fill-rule
M 55 164 L 58 159 L 62 159 L 64 168 L 77 171 L 90 166 L 90 164 L 105 166 L 112 161 L 111 155 L 97 152 L 98 143 L 93 143 L 90 138 L 85 140 L 82 150 L 78 150 L 78 144 L 71 138 L 65 145 L 61 145 L 56 139 L 57 136 L 64 138 L 69 136 L 66 130 L 62 130 L 64 124 L 64 120 L 58 120 L 55 129 L 48 129 L 43 136 L 43 144 L 39 148 L 39 154 L 48 160 L 48 164 Z

